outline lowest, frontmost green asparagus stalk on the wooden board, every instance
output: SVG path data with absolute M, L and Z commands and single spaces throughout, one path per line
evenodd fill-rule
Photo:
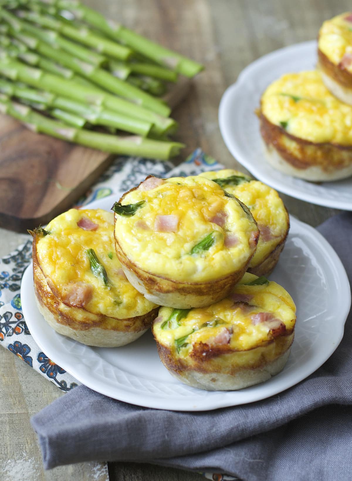
M 161 142 L 139 136 L 119 137 L 91 130 L 68 127 L 62 122 L 49 119 L 34 112 L 30 107 L 0 97 L 0 111 L 20 120 L 35 132 L 49 134 L 58 139 L 76 142 L 86 147 L 121 155 L 136 155 L 159 160 L 168 160 L 177 155 L 183 144 Z

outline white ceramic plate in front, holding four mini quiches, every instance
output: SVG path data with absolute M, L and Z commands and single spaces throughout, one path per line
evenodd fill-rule
M 115 196 L 89 204 L 110 210 Z M 50 328 L 39 313 L 29 266 L 22 280 L 24 318 L 45 354 L 86 386 L 127 403 L 177 411 L 201 411 L 251 403 L 284 391 L 321 366 L 342 339 L 351 304 L 346 272 L 328 242 L 291 217 L 291 229 L 270 279 L 290 292 L 297 305 L 291 355 L 274 378 L 241 391 L 209 392 L 175 380 L 158 357 L 151 332 L 118 348 L 89 347 Z

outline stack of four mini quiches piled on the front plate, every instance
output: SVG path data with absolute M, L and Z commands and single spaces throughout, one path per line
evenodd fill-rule
M 112 210 L 71 209 L 33 232 L 36 300 L 56 331 L 116 347 L 151 326 L 170 373 L 206 390 L 284 367 L 296 314 L 267 280 L 289 230 L 275 190 L 230 169 L 149 176 Z

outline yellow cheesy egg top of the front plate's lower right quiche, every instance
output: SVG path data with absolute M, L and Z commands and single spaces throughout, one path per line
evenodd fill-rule
M 221 340 L 224 328 L 229 333 L 226 343 L 229 351 L 250 351 L 266 345 L 273 339 L 272 324 L 254 323 L 255 315 L 264 313 L 272 316 L 273 322 L 281 322 L 291 332 L 295 325 L 296 307 L 290 294 L 272 281 L 264 285 L 246 285 L 255 279 L 257 276 L 246 273 L 229 297 L 209 307 L 183 310 L 178 321 L 174 316 L 171 328 L 168 319 L 177 310 L 161 307 L 153 325 L 155 338 L 174 355 L 187 359 L 194 344 L 211 344 L 217 336 Z M 247 302 L 236 303 L 234 294 L 248 296 Z

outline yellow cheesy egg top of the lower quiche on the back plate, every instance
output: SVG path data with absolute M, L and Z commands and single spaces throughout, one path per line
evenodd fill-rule
M 316 70 L 273 82 L 262 96 L 261 111 L 269 122 L 300 139 L 352 145 L 352 106 L 334 97 Z

